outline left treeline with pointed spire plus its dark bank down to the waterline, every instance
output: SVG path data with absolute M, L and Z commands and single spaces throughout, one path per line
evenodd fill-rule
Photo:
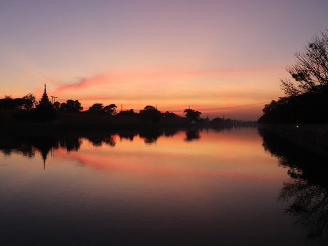
M 116 112 L 117 106 L 101 103 L 93 104 L 86 111 L 78 100 L 69 99 L 65 103 L 55 101 L 50 103 L 45 91 L 42 99 L 35 101 L 33 94 L 30 98 L 12 98 L 6 96 L 0 99 L 0 124 L 50 122 L 66 125 L 142 125 L 154 124 L 186 124 L 183 117 L 173 112 L 161 113 L 153 106 L 146 106 L 140 113 L 133 109 Z M 9 110 L 9 111 L 8 111 Z M 92 116 L 94 115 L 94 116 Z M 186 118 L 185 118 L 186 119 Z

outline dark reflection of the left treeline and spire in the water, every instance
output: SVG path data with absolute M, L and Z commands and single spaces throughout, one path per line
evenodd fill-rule
M 20 153 L 25 157 L 33 158 L 35 152 L 39 152 L 43 158 L 44 166 L 49 153 L 58 148 L 70 151 L 78 151 L 82 139 L 88 139 L 94 147 L 108 145 L 115 147 L 116 137 L 119 139 L 129 139 L 133 141 L 134 137 L 139 136 L 145 144 L 156 144 L 159 137 L 170 137 L 181 130 L 178 129 L 144 129 L 140 131 L 121 131 L 121 132 L 88 132 L 88 133 L 69 133 L 69 134 L 47 134 L 47 135 L 13 135 L 0 138 L 0 152 L 6 156 L 13 153 Z M 198 131 L 198 130 L 197 130 Z M 189 133 L 190 134 L 190 133 Z M 195 135 L 194 133 L 192 135 Z M 197 137 L 197 136 L 196 136 Z M 193 139 L 195 136 L 189 136 L 187 139 Z M 199 138 L 199 132 L 198 132 Z

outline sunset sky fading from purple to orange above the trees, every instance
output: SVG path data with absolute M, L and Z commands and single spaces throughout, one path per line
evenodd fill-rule
M 327 13 L 326 0 L 1 0 L 0 97 L 38 99 L 46 83 L 85 109 L 256 120 Z

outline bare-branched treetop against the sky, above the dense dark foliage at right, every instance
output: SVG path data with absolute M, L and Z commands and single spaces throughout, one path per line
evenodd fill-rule
M 327 30 L 328 31 L 328 30 Z M 290 79 L 280 79 L 280 87 L 288 96 L 297 96 L 314 91 L 318 86 L 328 85 L 328 35 L 314 36 L 304 47 L 304 52 L 296 52 L 296 63 L 286 68 L 296 83 Z

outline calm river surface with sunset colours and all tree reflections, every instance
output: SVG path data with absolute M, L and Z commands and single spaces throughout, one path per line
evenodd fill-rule
M 0 138 L 2 245 L 326 245 L 327 161 L 256 128 Z

